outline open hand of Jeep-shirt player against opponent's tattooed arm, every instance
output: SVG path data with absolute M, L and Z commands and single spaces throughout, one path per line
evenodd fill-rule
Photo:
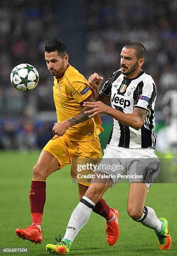
M 107 111 L 108 111 L 108 108 L 110 108 L 109 106 L 105 105 L 101 101 L 97 101 L 97 102 L 86 101 L 86 102 L 83 102 L 83 106 L 84 107 L 88 107 L 88 108 L 93 108 L 91 110 L 88 110 L 88 111 L 84 112 L 86 114 L 93 113 L 92 115 L 88 116 L 89 118 L 92 118 L 92 117 L 94 117 L 94 116 L 96 116 L 98 114 L 106 114 Z

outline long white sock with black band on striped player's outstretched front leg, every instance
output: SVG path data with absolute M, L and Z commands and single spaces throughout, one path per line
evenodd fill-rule
M 81 201 L 78 203 L 76 208 L 73 210 L 73 213 L 71 214 L 66 228 L 66 233 L 63 238 L 73 242 L 78 232 L 87 223 L 87 220 L 89 219 L 94 206 L 95 203 L 92 202 L 89 198 L 85 196 L 82 197 Z

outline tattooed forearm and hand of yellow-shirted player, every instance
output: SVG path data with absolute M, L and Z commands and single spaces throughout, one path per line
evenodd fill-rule
M 87 102 L 96 102 L 95 98 L 92 96 L 88 99 Z M 82 123 L 86 120 L 88 120 L 88 116 L 90 114 L 84 113 L 85 111 L 91 110 L 92 107 L 83 107 L 83 109 L 81 110 L 80 113 L 78 113 L 78 115 L 73 116 L 70 119 L 67 119 L 61 123 L 55 123 L 52 129 L 53 134 L 57 134 L 59 136 L 63 136 L 63 134 L 66 132 L 66 130 L 72 126 L 72 125 L 76 125 L 78 123 Z

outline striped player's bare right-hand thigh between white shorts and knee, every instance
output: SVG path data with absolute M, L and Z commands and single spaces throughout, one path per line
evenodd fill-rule
M 132 182 L 129 187 L 127 200 L 127 209 L 136 209 L 143 211 L 148 187 L 143 182 Z

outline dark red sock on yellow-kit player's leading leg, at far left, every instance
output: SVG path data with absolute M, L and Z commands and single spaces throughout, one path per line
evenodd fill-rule
M 43 207 L 46 202 L 46 182 L 32 180 L 30 190 L 30 207 L 32 223 L 41 225 Z

